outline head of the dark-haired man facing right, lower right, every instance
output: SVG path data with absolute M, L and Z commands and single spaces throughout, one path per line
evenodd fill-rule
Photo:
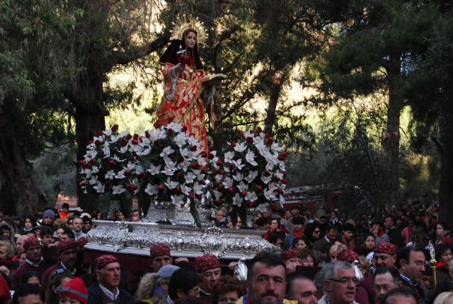
M 404 247 L 396 254 L 396 268 L 400 274 L 418 283 L 425 271 L 425 253 L 414 247 Z

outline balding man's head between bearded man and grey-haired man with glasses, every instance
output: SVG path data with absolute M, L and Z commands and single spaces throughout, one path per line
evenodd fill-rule
M 297 300 L 298 304 L 316 304 L 317 290 L 314 282 L 303 274 L 293 272 L 287 276 L 285 298 Z

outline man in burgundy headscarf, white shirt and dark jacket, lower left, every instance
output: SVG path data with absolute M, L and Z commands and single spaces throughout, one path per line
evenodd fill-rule
M 88 304 L 134 303 L 134 298 L 120 285 L 121 266 L 113 255 L 101 255 L 94 260 L 98 283 L 88 288 Z

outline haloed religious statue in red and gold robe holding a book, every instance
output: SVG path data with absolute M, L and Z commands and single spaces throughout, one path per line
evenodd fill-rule
M 202 151 L 207 151 L 205 107 L 203 90 L 223 74 L 207 76 L 198 53 L 198 44 L 205 42 L 207 34 L 200 21 L 180 22 L 173 29 L 172 40 L 159 59 L 163 66 L 164 96 L 156 115 L 157 124 L 169 122 L 183 124 L 188 134 L 195 134 Z M 212 92 L 205 94 L 212 98 Z

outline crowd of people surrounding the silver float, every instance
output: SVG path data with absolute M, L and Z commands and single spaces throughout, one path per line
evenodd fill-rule
M 149 271 L 102 252 L 87 264 L 86 233 L 97 214 L 67 204 L 33 216 L 1 214 L 0 304 L 453 303 L 453 235 L 437 212 L 418 203 L 392 207 L 382 219 L 261 209 L 253 227 L 273 249 L 246 263 L 246 278 L 234 276 L 237 261 L 173 257 L 164 244 L 149 248 Z M 114 219 L 142 221 L 139 210 Z M 222 209 L 212 217 L 226 229 L 238 221 Z

